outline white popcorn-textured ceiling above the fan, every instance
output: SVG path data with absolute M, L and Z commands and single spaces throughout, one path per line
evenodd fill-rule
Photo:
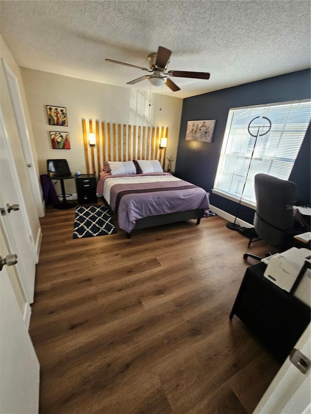
M 88 81 L 150 90 L 139 69 L 159 45 L 169 70 L 210 72 L 171 78 L 186 98 L 310 67 L 310 1 L 0 0 L 0 31 L 20 66 Z

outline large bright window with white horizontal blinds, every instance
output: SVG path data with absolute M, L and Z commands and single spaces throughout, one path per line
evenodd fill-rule
M 255 206 L 254 176 L 289 179 L 310 118 L 309 100 L 230 109 L 212 191 Z

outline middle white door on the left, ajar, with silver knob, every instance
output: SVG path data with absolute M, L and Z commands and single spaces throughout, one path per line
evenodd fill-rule
M 13 210 L 14 206 L 18 206 L 18 210 Z M 6 244 L 19 257 L 16 265 L 19 282 L 27 302 L 32 303 L 35 290 L 35 243 L 1 111 L 0 208 L 0 220 L 4 227 Z

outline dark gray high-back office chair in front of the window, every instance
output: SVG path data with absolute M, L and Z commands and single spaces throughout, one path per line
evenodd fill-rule
M 294 229 L 293 204 L 297 194 L 296 184 L 267 174 L 256 174 L 254 183 L 257 203 L 254 229 L 260 239 L 282 249 L 289 232 Z M 248 247 L 256 240 L 251 238 Z M 262 259 L 251 253 L 245 253 L 243 257 Z

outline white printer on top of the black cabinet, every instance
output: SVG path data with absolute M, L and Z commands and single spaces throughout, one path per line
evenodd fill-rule
M 272 256 L 262 259 L 267 264 L 264 272 L 270 282 L 275 283 L 281 289 L 290 292 L 297 276 L 300 273 L 304 263 L 311 261 L 311 251 L 307 248 L 290 248 L 282 253 L 276 253 Z M 308 306 L 311 305 L 311 271 L 306 269 L 294 296 L 299 298 Z

